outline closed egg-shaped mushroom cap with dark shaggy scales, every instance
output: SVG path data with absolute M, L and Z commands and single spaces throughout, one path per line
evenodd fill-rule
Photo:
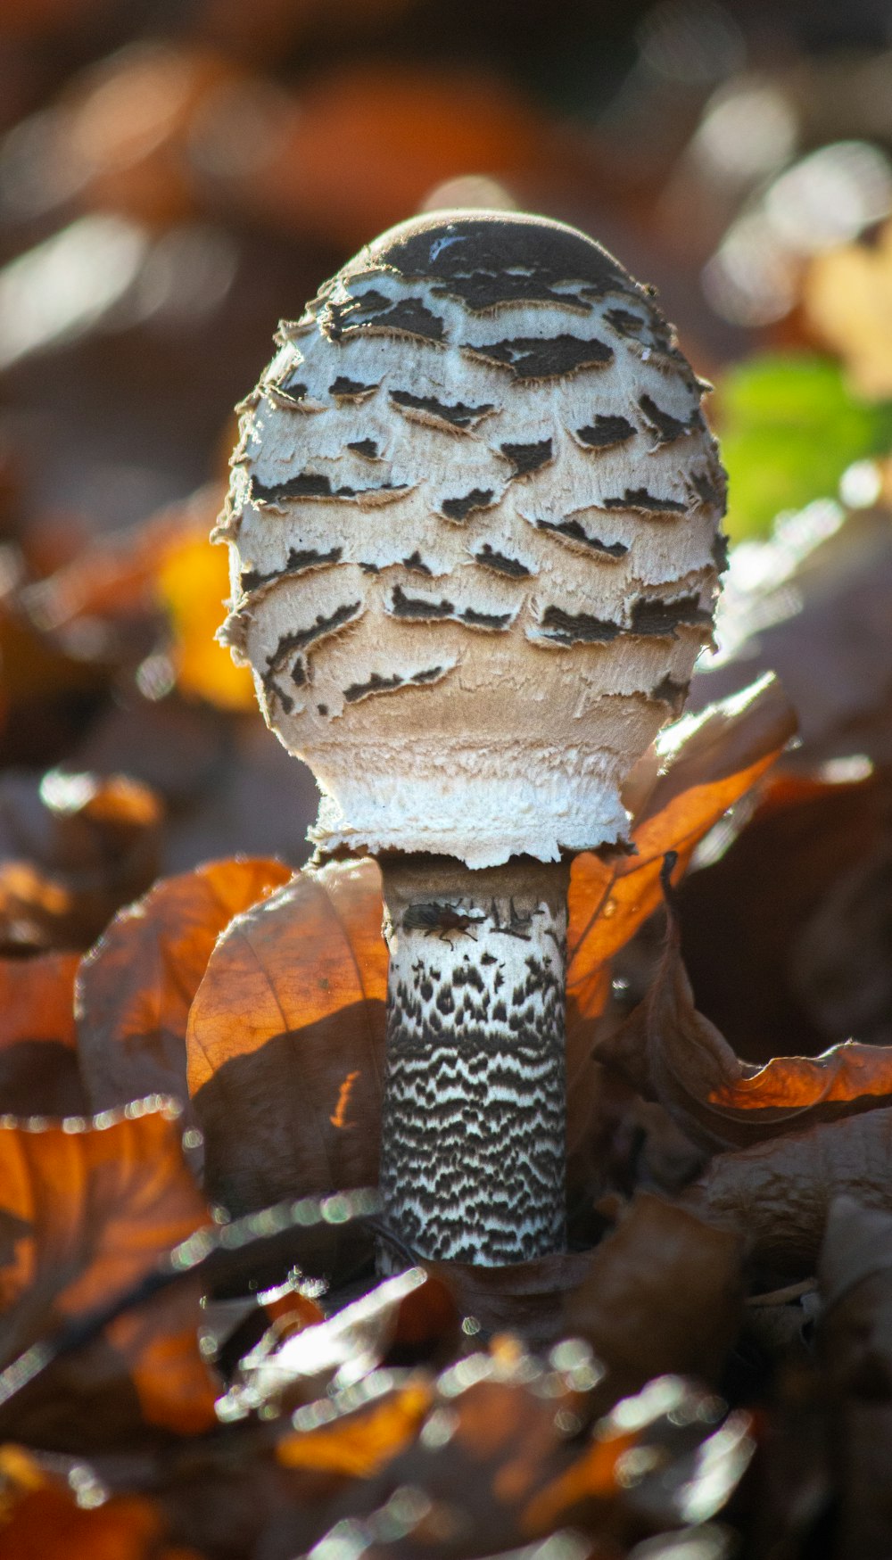
M 242 407 L 221 636 L 323 791 L 323 852 L 624 839 L 711 638 L 725 479 L 649 289 L 515 212 L 391 228 Z

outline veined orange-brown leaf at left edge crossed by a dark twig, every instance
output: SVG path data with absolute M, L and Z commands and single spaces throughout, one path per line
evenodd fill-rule
M 0 1359 L 128 1292 L 207 1211 L 182 1161 L 176 1117 L 143 1101 L 119 1117 L 0 1123 Z M 117 1445 L 140 1426 L 214 1423 L 198 1353 L 198 1292 L 178 1285 L 123 1312 L 3 1410 L 37 1445 Z

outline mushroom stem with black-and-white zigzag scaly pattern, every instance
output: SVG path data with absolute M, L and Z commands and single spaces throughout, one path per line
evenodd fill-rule
M 496 1267 L 560 1251 L 569 866 L 381 864 L 387 1221 L 424 1257 Z

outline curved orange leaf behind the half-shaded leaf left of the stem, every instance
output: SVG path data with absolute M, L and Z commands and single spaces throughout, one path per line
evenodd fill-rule
M 211 861 L 161 880 L 115 917 L 78 970 L 78 1048 L 90 1109 L 147 1094 L 187 1098 L 189 1008 L 217 938 L 290 875 L 278 861 Z

